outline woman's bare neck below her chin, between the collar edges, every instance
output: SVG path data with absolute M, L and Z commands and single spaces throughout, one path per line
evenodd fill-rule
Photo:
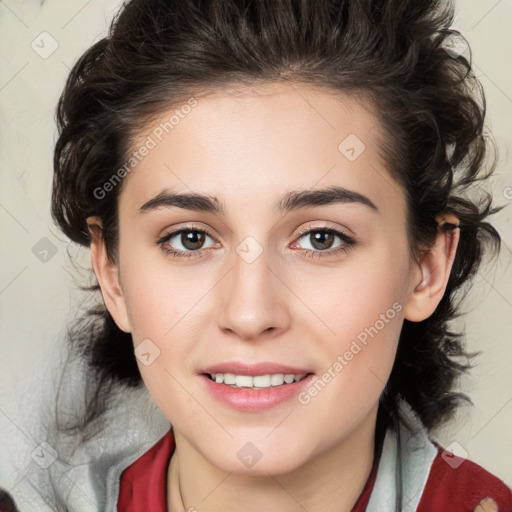
M 350 512 L 370 475 L 377 411 L 337 445 L 295 470 L 247 476 L 226 473 L 174 432 L 167 475 L 169 512 Z

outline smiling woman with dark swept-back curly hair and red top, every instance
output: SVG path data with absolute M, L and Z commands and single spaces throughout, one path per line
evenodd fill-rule
M 465 400 L 456 292 L 500 242 L 466 194 L 492 169 L 451 22 L 132 0 L 75 65 L 52 214 L 104 306 L 73 341 L 98 393 L 144 386 L 170 424 L 91 463 L 91 510 L 512 510 L 430 440 Z

